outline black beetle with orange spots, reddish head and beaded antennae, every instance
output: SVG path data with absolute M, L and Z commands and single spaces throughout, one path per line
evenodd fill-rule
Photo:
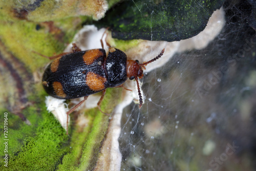
M 106 88 L 120 87 L 127 78 L 137 81 L 139 108 L 141 108 L 143 101 L 138 78 L 143 77 L 143 69 L 148 63 L 163 55 L 164 49 L 150 61 L 139 63 L 138 60 L 127 60 L 124 52 L 112 47 L 109 48 L 108 55 L 106 55 L 102 39 L 102 49 L 81 51 L 76 44 L 72 45 L 72 52 L 49 57 L 55 59 L 48 65 L 42 76 L 42 86 L 49 95 L 58 99 L 84 97 L 67 112 L 67 115 L 77 109 L 89 95 L 102 91 L 102 96 L 97 103 L 101 111 L 100 102 L 105 95 Z

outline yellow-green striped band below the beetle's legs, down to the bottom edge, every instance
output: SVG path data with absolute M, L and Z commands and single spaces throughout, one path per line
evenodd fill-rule
M 89 169 L 95 166 L 98 160 L 101 143 L 108 129 L 109 116 L 102 114 L 98 109 L 90 110 L 86 115 L 89 123 L 82 132 L 77 131 L 77 127 L 77 132 L 72 134 L 72 151 L 63 158 L 59 170 Z

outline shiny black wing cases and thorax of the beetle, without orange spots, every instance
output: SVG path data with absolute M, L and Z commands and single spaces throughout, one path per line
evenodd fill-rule
M 96 56 L 90 65 L 87 65 L 83 60 L 83 55 L 87 51 L 79 51 L 61 56 L 56 72 L 52 72 L 52 63 L 50 63 L 42 77 L 45 91 L 56 98 L 73 99 L 89 96 L 106 88 L 113 88 L 123 84 L 127 79 L 126 54 L 115 49 L 114 52 L 109 52 L 108 57 L 106 57 L 104 49 L 98 50 L 102 52 L 102 55 Z M 93 72 L 97 76 L 106 79 L 102 90 L 94 91 L 89 88 L 86 81 L 88 72 Z M 66 95 L 65 97 L 56 94 L 53 88 L 53 82 L 55 81 L 61 83 L 61 89 L 63 94 Z M 47 83 L 44 84 L 44 82 Z

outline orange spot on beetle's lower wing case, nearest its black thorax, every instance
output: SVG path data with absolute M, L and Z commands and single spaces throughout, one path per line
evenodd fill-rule
M 102 77 L 93 72 L 88 72 L 86 75 L 86 84 L 93 91 L 101 91 L 105 89 L 104 83 L 106 82 L 106 78 Z

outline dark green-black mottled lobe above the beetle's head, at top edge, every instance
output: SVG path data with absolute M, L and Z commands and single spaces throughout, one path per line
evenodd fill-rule
M 176 41 L 200 33 L 223 2 L 126 1 L 114 6 L 97 25 L 111 27 L 118 39 Z

